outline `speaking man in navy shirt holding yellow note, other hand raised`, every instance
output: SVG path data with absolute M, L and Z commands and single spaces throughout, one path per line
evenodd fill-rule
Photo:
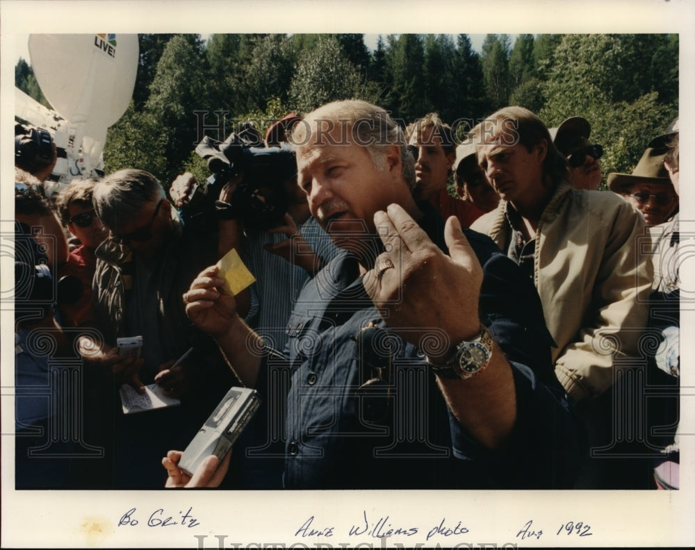
M 263 393 L 286 369 L 284 486 L 571 485 L 582 437 L 530 281 L 484 235 L 416 203 L 413 159 L 382 108 L 329 103 L 293 141 L 311 213 L 343 252 L 302 291 L 286 352 L 243 323 L 217 268 L 184 294 L 245 385 Z M 179 457 L 164 459 L 170 485 L 184 484 Z

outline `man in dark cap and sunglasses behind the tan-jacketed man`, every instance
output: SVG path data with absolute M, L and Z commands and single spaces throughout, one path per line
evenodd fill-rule
M 577 189 L 596 190 L 601 181 L 603 145 L 589 142 L 591 125 L 583 117 L 570 117 L 555 128 L 550 128 L 553 142 L 570 167 L 571 183 Z

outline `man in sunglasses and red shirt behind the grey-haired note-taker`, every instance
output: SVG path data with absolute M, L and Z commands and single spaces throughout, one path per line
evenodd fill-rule
M 94 180 L 73 180 L 56 199 L 60 219 L 80 242 L 70 252 L 61 276 L 74 275 L 82 281 L 82 297 L 75 303 L 61 303 L 60 322 L 63 326 L 93 326 L 92 278 L 97 269 L 95 251 L 108 237 L 108 231 L 92 205 Z

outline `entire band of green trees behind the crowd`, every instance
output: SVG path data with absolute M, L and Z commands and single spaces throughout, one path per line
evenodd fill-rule
M 605 147 L 604 174 L 630 172 L 678 114 L 678 35 L 526 34 L 513 48 L 508 35 L 487 35 L 482 54 L 465 34 L 387 35 L 373 52 L 359 34 L 217 34 L 206 44 L 199 35 L 151 34 L 139 42 L 133 103 L 109 128 L 106 170 L 144 168 L 165 185 L 186 170 L 208 175 L 194 153 L 195 110 L 208 113 L 208 125 L 225 111 L 228 135 L 247 119 L 264 134 L 292 110 L 351 97 L 404 123 L 431 111 L 447 122 L 480 119 L 516 104 L 548 126 L 589 119 L 591 140 Z M 49 107 L 24 60 L 15 83 Z

